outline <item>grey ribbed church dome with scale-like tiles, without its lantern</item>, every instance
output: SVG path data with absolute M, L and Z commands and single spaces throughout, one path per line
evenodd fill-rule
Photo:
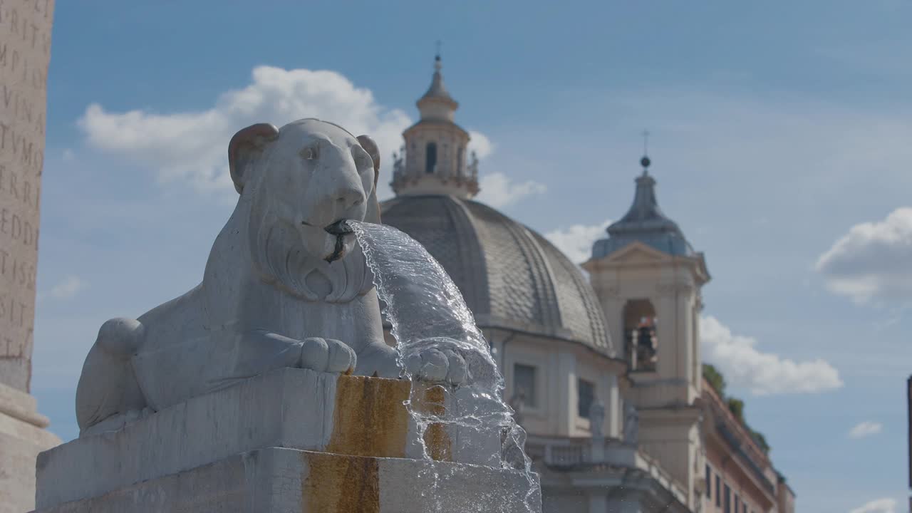
M 400 196 L 381 208 L 384 224 L 440 261 L 482 328 L 575 340 L 616 355 L 586 278 L 543 236 L 451 195 Z

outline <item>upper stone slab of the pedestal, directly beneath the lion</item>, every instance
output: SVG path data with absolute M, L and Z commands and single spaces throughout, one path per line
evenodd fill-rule
M 343 455 L 421 457 L 403 404 L 411 382 L 280 369 L 194 397 L 39 455 L 37 507 L 97 497 L 264 447 Z M 417 407 L 457 407 L 440 385 L 414 383 Z M 426 403 L 427 406 L 422 406 Z M 431 426 L 423 440 L 441 460 L 498 466 L 500 433 Z

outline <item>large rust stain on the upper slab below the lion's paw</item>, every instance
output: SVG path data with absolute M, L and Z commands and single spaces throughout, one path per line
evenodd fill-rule
M 339 376 L 333 433 L 327 453 L 405 457 L 411 383 L 405 380 Z

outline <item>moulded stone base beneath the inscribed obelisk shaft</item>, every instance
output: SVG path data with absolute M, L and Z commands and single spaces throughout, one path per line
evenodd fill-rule
M 34 397 L 0 384 L 0 513 L 35 508 L 36 457 L 60 444 L 36 410 Z

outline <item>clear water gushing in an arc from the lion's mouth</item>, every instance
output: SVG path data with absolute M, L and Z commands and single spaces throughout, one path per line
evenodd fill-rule
M 503 402 L 503 377 L 459 288 L 424 246 L 410 236 L 388 225 L 347 224 L 358 237 L 373 271 L 378 297 L 385 305 L 384 314 L 397 340 L 404 377 L 415 377 L 415 367 L 409 360 L 419 359 L 422 351 L 452 350 L 466 361 L 467 382 L 447 389 L 454 408 L 440 413 L 415 407 L 420 399 L 415 397 L 416 387 L 412 388 L 407 407 L 418 426 L 424 457 L 432 459 L 424 442 L 424 434 L 432 424 L 455 426 L 461 433 L 470 434 L 459 437 L 456 444 L 461 447 L 457 451 L 472 447 L 471 434 L 496 430 L 501 439 L 496 455 L 500 466 L 525 472 L 530 485 L 526 509 L 538 511 L 531 504 L 538 483 L 523 451 L 525 432 L 513 420 L 513 410 Z

